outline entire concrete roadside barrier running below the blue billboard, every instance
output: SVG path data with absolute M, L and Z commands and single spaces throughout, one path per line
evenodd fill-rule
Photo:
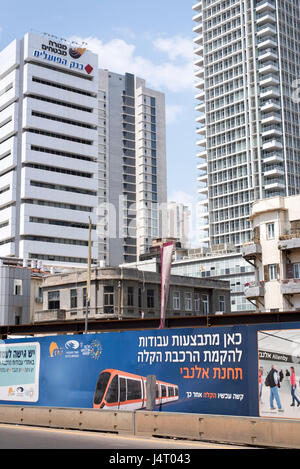
M 300 449 L 300 420 L 0 405 L 0 423 Z

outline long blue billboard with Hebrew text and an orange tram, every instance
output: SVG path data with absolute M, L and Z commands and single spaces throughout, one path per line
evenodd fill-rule
M 145 409 L 154 375 L 155 410 L 299 418 L 299 350 L 298 323 L 5 340 L 0 403 Z

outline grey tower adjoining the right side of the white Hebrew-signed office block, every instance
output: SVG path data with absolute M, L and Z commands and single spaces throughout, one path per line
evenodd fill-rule
M 99 70 L 98 94 L 98 258 L 114 266 L 138 260 L 164 229 L 165 98 L 132 74 L 108 70 Z

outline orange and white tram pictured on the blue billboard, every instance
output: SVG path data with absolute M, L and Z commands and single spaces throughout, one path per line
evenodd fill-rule
M 125 371 L 103 370 L 96 384 L 93 408 L 109 410 L 138 410 L 146 407 L 146 381 L 144 376 Z M 178 386 L 156 380 L 155 404 L 178 400 Z

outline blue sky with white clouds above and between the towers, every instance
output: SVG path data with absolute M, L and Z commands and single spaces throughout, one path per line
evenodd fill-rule
M 193 0 L 10 0 L 0 15 L 0 50 L 26 32 L 79 38 L 100 67 L 131 72 L 165 93 L 170 199 L 197 198 Z

